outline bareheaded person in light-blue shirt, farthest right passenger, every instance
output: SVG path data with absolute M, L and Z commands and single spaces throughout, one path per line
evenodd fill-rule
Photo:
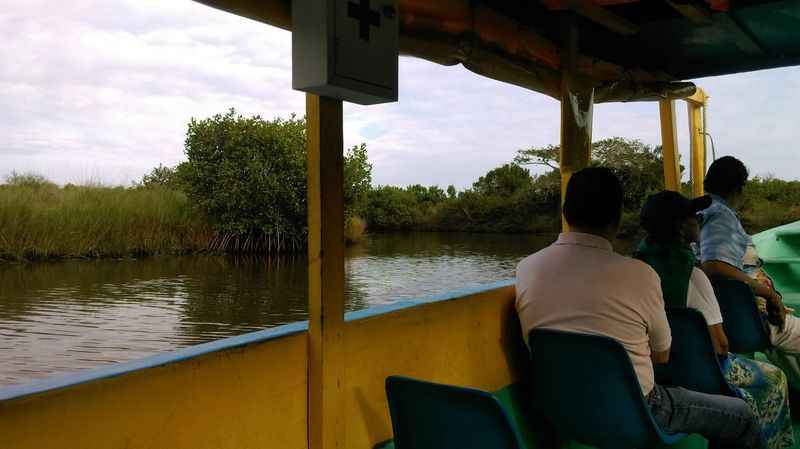
M 713 201 L 702 211 L 700 267 L 709 278 L 735 279 L 753 289 L 772 343 L 764 353 L 783 369 L 789 385 L 800 390 L 800 319 L 787 314 L 769 277 L 753 265 L 752 260 L 758 260 L 755 246 L 736 214 L 748 176 L 747 167 L 732 156 L 721 157 L 708 168 L 704 187 Z

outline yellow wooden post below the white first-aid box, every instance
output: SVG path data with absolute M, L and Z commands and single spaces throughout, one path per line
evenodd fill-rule
M 344 444 L 342 102 L 306 94 L 308 121 L 308 447 Z

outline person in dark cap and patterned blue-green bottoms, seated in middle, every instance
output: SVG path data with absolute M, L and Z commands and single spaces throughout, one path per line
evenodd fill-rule
M 700 233 L 697 213 L 711 202 L 709 196 L 689 200 L 671 191 L 650 195 L 640 216 L 647 235 L 634 257 L 658 273 L 667 307 L 689 307 L 703 315 L 725 378 L 758 417 L 768 447 L 791 447 L 794 431 L 786 375 L 769 363 L 728 353 L 728 338 L 714 289 L 697 268 L 691 248 Z

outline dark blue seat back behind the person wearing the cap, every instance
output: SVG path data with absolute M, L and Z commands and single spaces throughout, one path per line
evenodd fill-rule
M 669 383 L 702 393 L 735 396 L 722 374 L 703 315 L 695 309 L 668 308 L 667 319 L 672 330 Z

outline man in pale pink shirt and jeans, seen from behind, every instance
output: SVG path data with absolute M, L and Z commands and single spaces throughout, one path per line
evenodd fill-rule
M 669 360 L 672 334 L 658 275 L 613 250 L 621 217 L 622 185 L 611 170 L 591 167 L 572 175 L 564 198 L 569 232 L 517 265 L 523 335 L 548 328 L 613 338 L 627 351 L 664 431 L 698 433 L 713 447 L 766 447 L 758 419 L 742 399 L 655 382 L 653 364 Z

